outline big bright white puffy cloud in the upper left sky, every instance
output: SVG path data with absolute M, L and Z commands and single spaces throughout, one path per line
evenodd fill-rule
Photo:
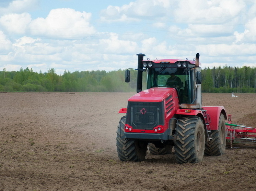
M 53 9 L 46 18 L 37 18 L 30 24 L 33 35 L 46 38 L 82 38 L 95 34 L 90 25 L 91 13 L 69 8 Z

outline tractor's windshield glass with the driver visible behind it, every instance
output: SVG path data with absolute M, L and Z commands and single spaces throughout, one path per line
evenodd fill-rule
M 193 101 L 193 71 L 184 68 L 151 68 L 148 71 L 147 88 L 174 87 L 182 104 Z

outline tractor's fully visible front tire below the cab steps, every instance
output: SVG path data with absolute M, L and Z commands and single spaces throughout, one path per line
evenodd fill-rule
M 178 163 L 201 162 L 205 150 L 205 129 L 201 118 L 187 116 L 178 119 L 174 149 Z

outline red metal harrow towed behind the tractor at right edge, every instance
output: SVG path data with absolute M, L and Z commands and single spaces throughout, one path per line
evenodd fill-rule
M 234 146 L 256 147 L 256 128 L 232 124 L 231 115 L 228 115 L 226 125 L 226 142 Z

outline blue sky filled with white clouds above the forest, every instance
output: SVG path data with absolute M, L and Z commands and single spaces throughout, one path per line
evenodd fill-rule
M 254 0 L 1 0 L 0 71 L 118 70 L 146 58 L 256 66 Z

